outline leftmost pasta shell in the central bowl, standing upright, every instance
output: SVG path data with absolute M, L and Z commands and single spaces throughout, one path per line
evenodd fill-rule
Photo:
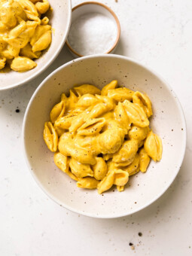
M 44 123 L 44 142 L 50 151 L 55 152 L 58 144 L 58 136 L 53 127 L 53 124 L 50 122 Z

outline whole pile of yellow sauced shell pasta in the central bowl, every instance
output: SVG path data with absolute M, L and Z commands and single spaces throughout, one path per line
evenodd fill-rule
M 50 111 L 44 142 L 54 162 L 77 186 L 98 189 L 113 185 L 123 191 L 131 175 L 160 161 L 162 142 L 149 128 L 153 114 L 147 95 L 111 81 L 102 90 L 90 84 L 74 87 Z

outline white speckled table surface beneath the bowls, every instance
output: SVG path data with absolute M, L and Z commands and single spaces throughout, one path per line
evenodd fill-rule
M 73 0 L 72 4 L 81 2 Z M 192 1 L 99 2 L 111 7 L 120 20 L 115 53 L 133 57 L 160 73 L 178 95 L 188 131 L 183 165 L 163 197 L 125 218 L 88 218 L 50 200 L 23 159 L 21 127 L 35 88 L 47 74 L 72 59 L 64 47 L 39 78 L 0 93 L 1 256 L 192 255 Z

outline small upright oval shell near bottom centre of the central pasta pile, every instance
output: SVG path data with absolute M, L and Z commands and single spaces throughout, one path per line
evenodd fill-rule
M 98 181 L 102 180 L 108 171 L 105 160 L 103 160 L 102 157 L 96 157 L 96 164 L 92 166 L 92 169 L 94 172 L 94 178 Z

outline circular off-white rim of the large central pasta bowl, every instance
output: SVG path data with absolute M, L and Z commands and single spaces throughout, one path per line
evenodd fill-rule
M 29 158 L 27 157 L 27 154 L 26 154 L 26 142 L 25 142 L 26 119 L 27 119 L 27 116 L 28 116 L 29 108 L 31 107 L 33 99 L 35 99 L 35 96 L 38 93 L 38 91 L 41 90 L 41 87 L 44 87 L 44 84 L 46 84 L 47 81 L 53 75 L 55 75 L 60 70 L 64 69 L 66 66 L 70 66 L 70 65 L 74 64 L 75 62 L 81 62 L 84 59 L 94 59 L 94 58 L 98 58 L 98 57 L 105 57 L 105 58 L 114 57 L 114 58 L 117 58 L 117 59 L 119 59 L 119 58 L 120 59 L 125 59 L 125 60 L 127 60 L 129 62 L 135 63 L 136 65 L 142 67 L 143 69 L 148 70 L 153 75 L 155 75 L 157 78 L 159 78 L 160 81 L 162 81 L 162 83 L 165 84 L 166 88 L 168 88 L 169 91 L 171 91 L 172 95 L 174 96 L 175 102 L 178 105 L 178 110 L 179 110 L 179 114 L 181 116 L 183 135 L 184 135 L 184 141 L 183 141 L 183 143 L 181 145 L 181 154 L 180 154 L 181 157 L 180 157 L 178 166 L 177 166 L 177 168 L 175 168 L 175 173 L 174 173 L 174 175 L 172 175 L 172 179 L 169 181 L 169 183 L 166 184 L 166 187 L 159 194 L 157 194 L 157 196 L 154 197 L 153 200 L 150 200 L 148 203 L 145 203 L 145 205 L 139 207 L 139 209 L 132 210 L 130 212 L 126 212 L 126 213 L 118 214 L 118 215 L 112 215 L 112 214 L 111 215 L 110 214 L 108 214 L 108 215 L 95 215 L 95 214 L 90 214 L 89 212 L 88 213 L 87 212 L 82 212 L 82 211 L 79 211 L 79 210 L 76 210 L 76 209 L 72 208 L 71 206 L 66 205 L 66 203 L 62 203 L 60 200 L 58 200 L 56 197 L 54 197 L 52 194 L 50 194 L 50 192 L 38 180 L 37 176 L 32 171 L 32 166 L 30 165 Z M 139 212 L 142 209 L 145 209 L 146 207 L 150 206 L 157 199 L 159 199 L 166 192 L 166 190 L 169 188 L 169 186 L 175 180 L 175 177 L 178 175 L 178 172 L 179 172 L 179 170 L 181 168 L 181 164 L 182 164 L 182 162 L 184 160 L 184 154 L 185 154 L 185 149 L 186 149 L 186 140 L 187 140 L 186 120 L 185 120 L 185 117 L 184 117 L 184 111 L 183 111 L 183 109 L 181 107 L 181 103 L 179 102 L 178 97 L 175 95 L 175 92 L 172 90 L 172 87 L 170 87 L 170 85 L 160 75 L 158 75 L 157 72 L 154 72 L 152 69 L 149 69 L 147 66 L 142 65 L 140 62 L 138 62 L 135 59 L 132 59 L 130 57 L 116 55 L 116 54 L 94 54 L 94 55 L 90 55 L 90 56 L 84 56 L 84 57 L 81 57 L 81 58 L 78 58 L 78 59 L 73 59 L 72 61 L 67 62 L 66 64 L 60 66 L 58 69 L 56 69 L 52 73 L 50 73 L 50 75 L 48 75 L 47 78 L 45 78 L 44 81 L 42 81 L 41 84 L 38 86 L 38 88 L 35 90 L 35 92 L 33 93 L 32 97 L 31 97 L 31 99 L 29 101 L 29 104 L 27 105 L 26 112 L 25 112 L 25 115 L 24 115 L 24 118 L 23 118 L 23 126 L 22 126 L 21 136 L 22 136 L 23 154 L 24 154 L 24 157 L 26 159 L 27 166 L 29 167 L 29 170 L 30 170 L 33 178 L 35 179 L 35 181 L 37 182 L 39 187 L 41 187 L 41 189 L 44 191 L 44 193 L 47 194 L 47 196 L 51 200 L 53 200 L 56 203 L 58 203 L 59 206 L 63 206 L 65 209 L 68 209 L 68 210 L 70 210 L 72 212 L 75 212 L 75 213 L 81 214 L 81 215 L 85 215 L 87 217 L 92 217 L 92 218 L 120 218 L 120 217 L 124 217 L 124 216 L 127 216 L 127 215 L 133 215 L 134 213 Z

